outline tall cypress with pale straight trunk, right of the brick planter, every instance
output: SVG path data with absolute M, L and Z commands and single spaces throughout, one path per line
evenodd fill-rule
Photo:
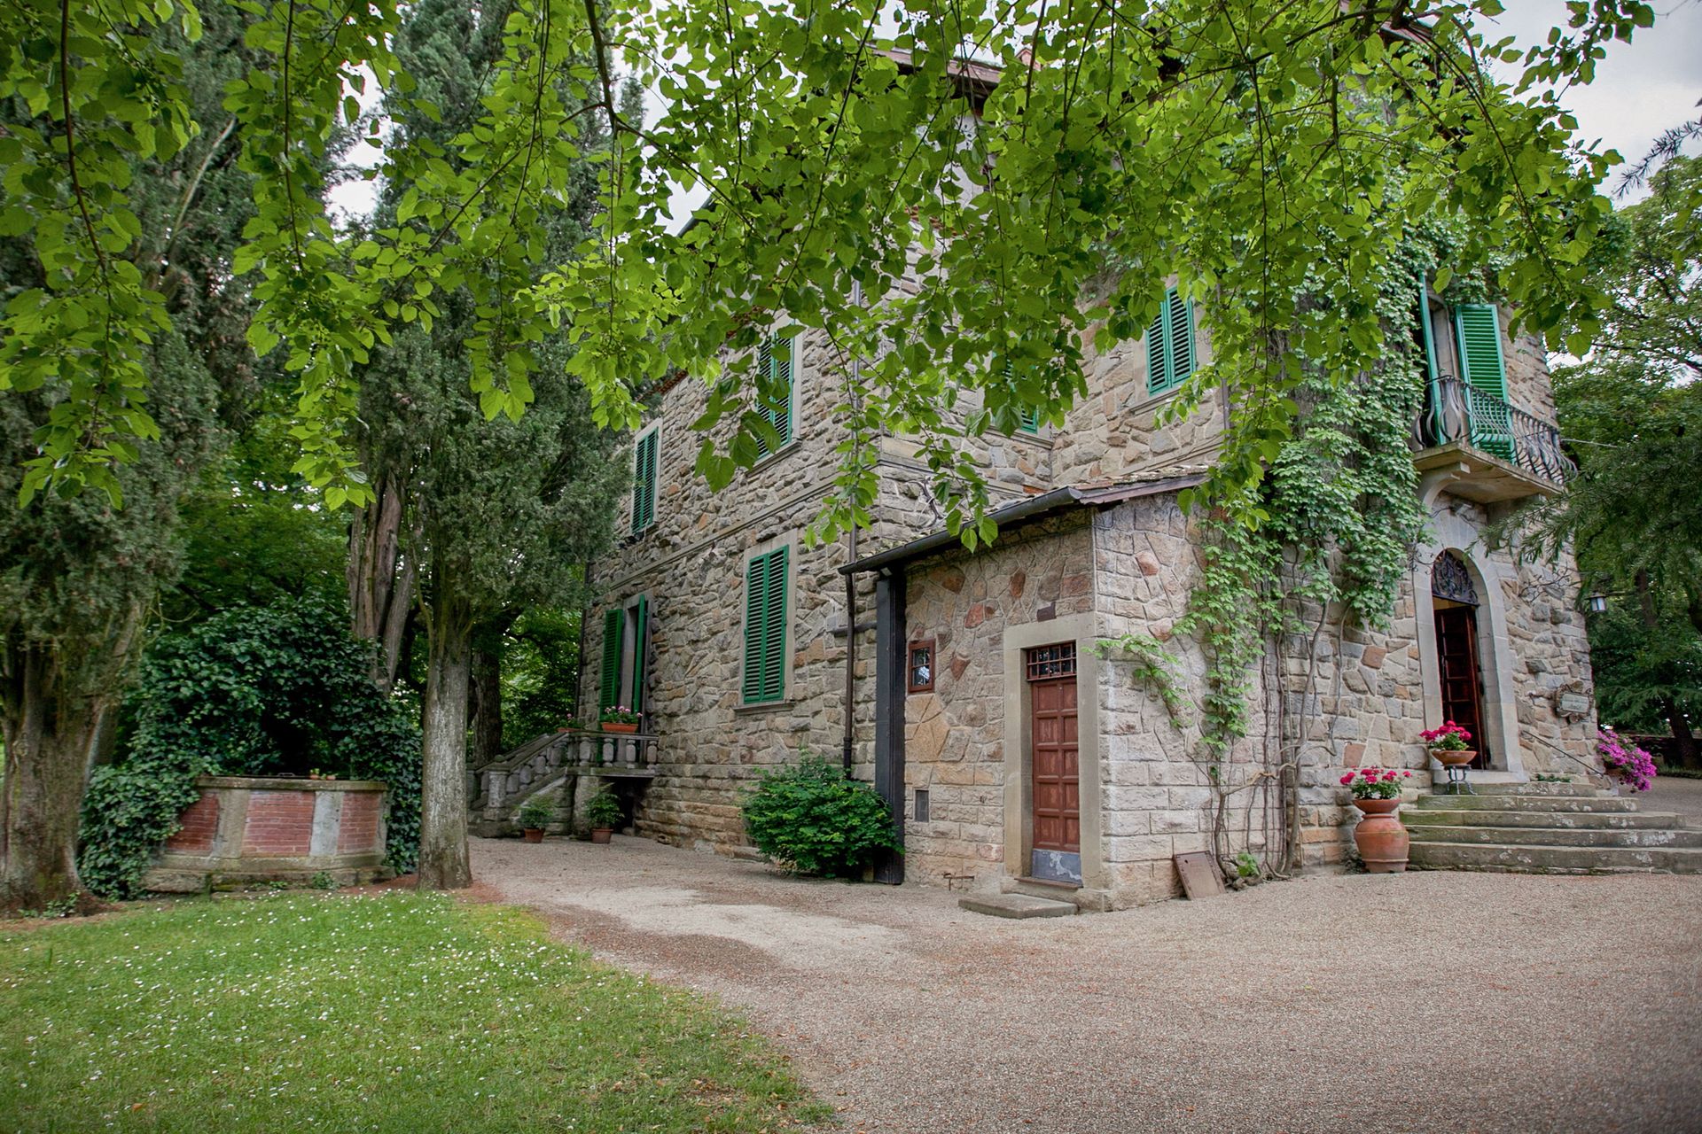
M 386 100 L 397 129 L 415 145 L 446 145 L 471 129 L 490 97 L 507 24 L 500 3 L 426 0 L 412 9 L 397 56 L 424 83 L 419 99 Z M 422 111 L 422 102 L 441 111 Z M 487 202 L 488 219 L 514 223 L 516 238 L 495 243 L 468 265 L 461 286 L 437 294 L 431 326 L 410 326 L 361 371 L 363 464 L 381 491 L 354 525 L 351 580 L 356 595 L 417 588 L 427 648 L 422 887 L 471 881 L 466 751 L 475 678 L 487 717 L 480 743 L 488 746 L 500 728 L 500 675 L 490 666 L 507 622 L 528 605 L 572 602 L 577 566 L 613 534 L 621 471 L 609 456 L 618 435 L 596 427 L 591 396 L 567 377 L 562 338 L 516 343 L 536 355 L 541 372 L 524 415 L 487 418 L 470 381 L 478 342 L 514 333 L 487 306 L 490 298 L 574 253 L 589 231 L 594 187 L 589 162 L 580 162 L 562 165 L 536 199 Z M 391 223 L 419 192 L 415 180 L 386 182 L 378 223 Z M 398 554 L 369 554 L 385 544 Z M 407 578 L 412 571 L 417 578 Z

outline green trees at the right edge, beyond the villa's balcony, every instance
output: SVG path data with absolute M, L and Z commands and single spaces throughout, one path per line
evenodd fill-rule
M 1591 260 L 1610 304 L 1590 354 L 1556 367 L 1561 430 L 1579 476 L 1515 520 L 1527 551 L 1571 547 L 1585 590 L 1603 717 L 1663 721 L 1697 763 L 1702 724 L 1702 158 L 1673 158 L 1620 209 Z

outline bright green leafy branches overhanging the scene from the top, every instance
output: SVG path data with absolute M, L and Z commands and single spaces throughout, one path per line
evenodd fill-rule
M 1476 31 L 1496 0 L 1421 17 L 1404 0 L 517 0 L 482 99 L 465 107 L 473 129 L 443 143 L 374 124 L 383 175 L 412 189 L 395 223 L 346 238 L 315 201 L 320 158 L 359 117 L 354 90 L 376 82 L 410 99 L 419 87 L 419 65 L 397 51 L 403 7 L 235 7 L 259 63 L 225 105 L 257 173 L 259 216 L 233 267 L 257 272 L 252 342 L 298 374 L 301 471 L 334 507 L 383 485 L 354 445 L 356 372 L 371 349 L 436 320 L 444 292 L 524 243 L 528 207 L 560 192 L 585 131 L 608 126 L 591 255 L 543 286 L 504 275 L 480 299 L 468 377 L 485 415 L 526 408 L 529 343 L 560 326 L 585 347 L 568 366 L 601 423 L 637 422 L 655 374 L 706 384 L 698 468 L 725 483 L 757 457 L 757 400 L 776 391 L 756 367 L 723 372 L 720 354 L 786 311 L 870 360 L 865 396 L 841 411 L 858 444 L 820 530 L 861 517 L 875 488 L 866 447 L 895 427 L 921 439 L 970 542 L 991 530 L 963 432 L 1023 408 L 1057 417 L 1084 391 L 1082 332 L 1101 347 L 1139 338 L 1171 277 L 1210 292 L 1217 313 L 1215 357 L 1195 386 L 1234 394 L 1219 498 L 1263 478 L 1292 432 L 1302 376 L 1290 349 L 1328 372 L 1375 372 L 1385 343 L 1372 281 L 1418 224 L 1472 218 L 1460 262 L 1501 253 L 1496 282 L 1513 308 L 1542 328 L 1571 318 L 1588 338 L 1581 260 L 1610 158 L 1569 148 L 1573 121 L 1551 92 L 1590 82 L 1603 44 L 1654 20 L 1642 0 L 1573 3 L 1566 29 L 1518 51 Z M 158 303 L 104 260 L 102 241 L 129 219 L 102 146 L 167 146 L 192 117 L 170 61 L 111 32 L 167 19 L 194 22 L 179 0 L 0 9 L 0 82 L 58 126 L 0 143 L 20 170 L 5 184 L 5 202 L 22 207 L 9 223 L 70 270 L 7 313 L 0 357 L 34 381 L 49 366 L 37 355 L 89 350 L 102 376 L 44 437 L 27 490 L 99 485 L 109 442 L 151 428 L 129 359 Z M 1004 68 L 996 88 L 984 60 Z M 1491 61 L 1522 63 L 1518 87 L 1498 83 Z M 620 105 L 623 65 L 660 94 L 655 122 Z M 89 78 L 54 100 L 54 66 Z M 61 155 L 60 136 L 73 134 Z M 681 185 L 711 202 L 684 231 Z M 37 223 L 44 194 L 73 207 Z M 917 250 L 922 286 L 895 287 Z M 1110 286 L 1106 253 L 1127 265 Z M 107 294 L 123 299 L 112 333 L 90 335 Z M 965 386 L 984 411 L 960 425 L 945 410 Z

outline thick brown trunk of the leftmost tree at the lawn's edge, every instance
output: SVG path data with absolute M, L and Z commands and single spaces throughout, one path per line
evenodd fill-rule
M 70 695 L 43 646 L 12 649 L 7 661 L 0 908 L 46 910 L 83 889 L 77 819 L 104 706 Z

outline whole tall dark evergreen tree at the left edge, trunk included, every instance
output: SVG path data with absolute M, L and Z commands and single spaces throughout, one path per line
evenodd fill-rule
M 254 56 L 237 12 L 214 7 L 208 15 L 196 36 L 145 27 L 124 39 L 138 58 L 162 60 L 170 78 L 162 97 L 180 99 L 199 131 L 191 136 L 184 121 L 182 138 L 167 131 L 162 141 L 141 119 L 128 136 L 111 122 L 75 136 L 73 153 L 90 163 L 78 167 L 80 190 L 44 177 L 44 168 L 31 179 L 29 163 L 14 158 L 32 145 L 63 155 L 73 138 L 65 100 L 104 97 L 111 77 L 75 66 L 68 73 L 54 54 L 61 68 L 44 82 L 0 83 L 9 184 L 0 298 L 14 316 L 36 313 L 61 332 L 37 349 L 15 337 L 0 347 L 0 388 L 14 391 L 0 398 L 0 493 L 9 502 L 31 495 L 29 469 L 65 456 L 53 435 L 68 422 L 90 437 L 121 420 L 134 427 L 131 440 L 116 442 L 92 469 L 97 491 L 53 491 L 0 508 L 0 903 L 9 906 L 39 908 L 78 889 L 77 811 L 89 762 L 106 748 L 162 587 L 184 566 L 186 498 L 204 490 L 203 471 L 225 449 L 228 427 L 254 408 L 266 369 L 247 343 L 254 298 L 231 277 L 243 226 L 255 216 L 254 185 L 238 168 L 237 119 L 221 105 L 225 85 Z M 27 49 L 39 51 L 32 43 Z M 82 221 L 78 199 L 87 199 L 90 218 L 106 216 L 97 275 L 46 236 Z M 150 296 L 141 309 L 157 318 L 116 359 L 111 349 L 136 311 L 128 287 Z M 143 403 L 145 417 L 128 417 Z

